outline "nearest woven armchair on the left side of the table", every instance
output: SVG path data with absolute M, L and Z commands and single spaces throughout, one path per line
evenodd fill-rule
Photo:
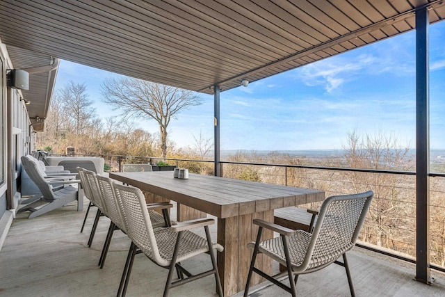
M 168 228 L 154 229 L 150 220 L 145 197 L 138 188 L 113 184 L 115 188 L 115 198 L 118 200 L 119 211 L 123 218 L 127 234 L 131 239 L 131 247 L 127 262 L 122 273 L 118 296 L 125 296 L 133 265 L 134 255 L 140 249 L 152 262 L 163 268 L 168 268 L 168 277 L 165 283 L 163 296 L 168 296 L 168 291 L 172 287 L 180 284 L 203 278 L 213 274 L 216 280 L 216 288 L 219 296 L 223 296 L 218 268 L 216 266 L 216 255 L 213 249 L 223 251 L 223 246 L 212 243 L 209 225 L 215 220 L 202 218 L 178 223 Z M 206 238 L 199 236 L 189 230 L 197 227 L 204 227 Z M 190 259 L 203 253 L 209 253 L 212 268 L 197 275 L 192 275 L 179 262 Z M 181 271 L 181 278 L 172 281 L 175 269 Z M 187 278 L 184 278 L 185 274 Z

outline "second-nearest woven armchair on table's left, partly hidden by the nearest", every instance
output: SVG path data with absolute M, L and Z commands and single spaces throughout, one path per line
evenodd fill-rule
M 121 230 L 125 234 L 127 234 L 127 230 L 125 229 L 125 225 L 122 222 L 122 218 L 120 217 L 120 213 L 118 211 L 118 204 L 114 197 L 114 188 L 113 188 L 113 179 L 109 177 L 103 177 L 101 175 L 95 175 L 97 179 L 97 184 L 99 186 L 100 194 L 102 195 L 102 202 L 104 202 L 107 209 L 107 216 L 110 218 L 110 227 L 108 228 L 108 233 L 106 235 L 104 248 L 102 248 L 102 254 L 99 259 L 100 268 L 104 267 L 106 255 L 108 253 L 108 248 L 110 247 L 111 239 L 113 238 L 113 234 L 116 230 Z M 170 203 L 152 203 L 147 205 L 149 207 L 149 216 L 152 221 L 152 226 L 156 227 L 169 227 L 172 223 L 175 222 L 170 221 L 170 215 L 168 214 L 168 209 L 173 205 Z M 155 210 L 161 210 L 162 215 L 156 212 Z

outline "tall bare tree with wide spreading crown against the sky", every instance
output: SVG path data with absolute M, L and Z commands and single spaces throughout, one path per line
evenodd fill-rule
M 202 99 L 192 91 L 159 83 L 121 77 L 102 84 L 102 101 L 119 110 L 124 118 L 145 116 L 156 120 L 161 136 L 162 157 L 167 157 L 167 128 L 177 113 L 200 105 Z

